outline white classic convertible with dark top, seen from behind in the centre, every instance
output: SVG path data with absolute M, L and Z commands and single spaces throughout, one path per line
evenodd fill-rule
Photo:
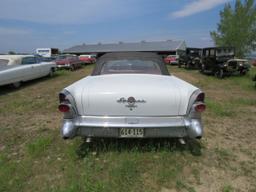
M 59 94 L 64 139 L 197 138 L 204 93 L 170 75 L 154 53 L 107 53 L 92 74 Z

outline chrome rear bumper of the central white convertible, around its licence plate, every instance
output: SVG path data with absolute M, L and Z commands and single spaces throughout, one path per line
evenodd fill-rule
M 108 117 L 78 116 L 64 119 L 61 135 L 64 139 L 75 136 L 120 137 L 119 128 L 144 128 L 145 138 L 189 137 L 201 138 L 200 119 L 178 117 Z

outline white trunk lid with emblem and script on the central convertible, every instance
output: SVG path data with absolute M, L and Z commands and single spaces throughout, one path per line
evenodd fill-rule
M 164 75 L 91 76 L 81 95 L 82 115 L 179 115 L 180 89 L 174 81 Z

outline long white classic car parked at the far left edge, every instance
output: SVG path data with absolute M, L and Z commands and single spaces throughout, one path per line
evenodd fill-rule
M 22 82 L 52 76 L 55 68 L 55 62 L 41 62 L 33 55 L 0 55 L 0 86 L 19 87 Z

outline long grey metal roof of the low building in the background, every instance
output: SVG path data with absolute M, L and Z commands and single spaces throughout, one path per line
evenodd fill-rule
M 104 54 L 109 52 L 130 52 L 130 51 L 141 51 L 141 52 L 157 52 L 159 54 L 170 54 L 177 50 L 185 50 L 185 41 L 154 41 L 147 42 L 141 41 L 137 43 L 112 43 L 112 44 L 94 44 L 94 45 L 77 45 L 69 49 L 65 49 L 64 53 L 71 54 Z

